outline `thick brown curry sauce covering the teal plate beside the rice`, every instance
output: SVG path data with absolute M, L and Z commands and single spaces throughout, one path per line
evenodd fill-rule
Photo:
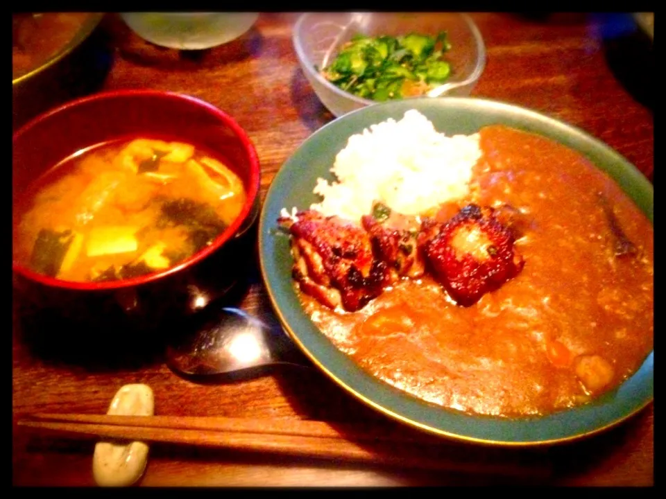
M 653 348 L 654 230 L 586 157 L 502 125 L 481 129 L 466 202 L 523 220 L 522 272 L 472 306 L 432 277 L 402 279 L 339 313 L 300 295 L 362 368 L 420 399 L 505 417 L 570 408 L 617 387 Z M 633 249 L 617 254 L 611 207 Z

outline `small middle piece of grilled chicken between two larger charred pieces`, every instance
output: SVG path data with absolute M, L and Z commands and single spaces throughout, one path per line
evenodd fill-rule
M 387 264 L 388 283 L 394 283 L 400 277 L 422 276 L 425 263 L 416 243 L 420 222 L 385 207 L 382 210 L 385 216 L 376 216 L 375 205 L 373 215 L 362 217 L 361 223 L 368 231 L 375 256 Z

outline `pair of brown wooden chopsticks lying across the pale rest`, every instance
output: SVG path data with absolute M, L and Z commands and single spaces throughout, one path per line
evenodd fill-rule
M 31 414 L 17 424 L 86 437 L 219 447 L 404 469 L 529 477 L 552 473 L 548 459 L 512 459 L 508 455 L 488 459 L 484 449 L 469 455 L 462 446 L 447 445 L 434 436 L 418 435 L 418 440 L 409 440 L 396 435 L 394 439 L 376 431 L 376 437 L 370 437 L 368 432 L 358 430 L 352 436 L 323 421 Z

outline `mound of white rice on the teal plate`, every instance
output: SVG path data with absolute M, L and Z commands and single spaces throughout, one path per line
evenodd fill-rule
M 418 215 L 466 197 L 480 156 L 479 134 L 447 137 L 409 110 L 400 121 L 388 119 L 352 135 L 331 168 L 336 181 L 317 180 L 314 193 L 322 200 L 310 208 L 359 222 L 376 200 Z

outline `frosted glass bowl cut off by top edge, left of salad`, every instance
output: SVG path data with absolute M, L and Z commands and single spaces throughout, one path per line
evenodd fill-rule
M 137 35 L 155 45 L 202 50 L 235 40 L 257 21 L 257 12 L 120 12 Z

